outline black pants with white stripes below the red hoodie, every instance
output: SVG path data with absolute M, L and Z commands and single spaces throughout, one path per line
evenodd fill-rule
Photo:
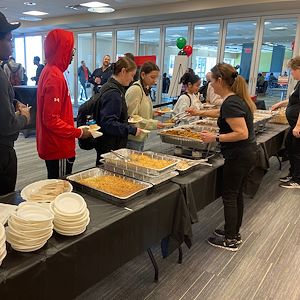
M 57 160 L 45 160 L 48 179 L 58 179 L 72 173 L 75 157 Z

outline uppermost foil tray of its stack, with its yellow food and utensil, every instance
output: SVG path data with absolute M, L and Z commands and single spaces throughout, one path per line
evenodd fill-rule
M 174 171 L 178 162 L 178 159 L 171 159 L 163 154 L 147 154 L 126 148 L 119 149 L 114 152 L 116 152 L 117 154 L 121 154 L 124 157 L 124 159 L 122 159 L 121 157 L 119 158 L 115 154 L 110 152 L 105 153 L 101 156 L 104 158 L 106 164 L 110 164 L 114 167 L 124 170 L 131 170 L 139 174 L 159 176 L 162 173 Z M 134 159 L 134 157 L 141 159 L 145 158 L 145 160 L 147 161 L 147 166 L 141 165 L 141 161 L 138 162 Z M 153 160 L 153 165 L 151 165 L 151 160 Z M 159 166 L 160 161 L 161 166 Z

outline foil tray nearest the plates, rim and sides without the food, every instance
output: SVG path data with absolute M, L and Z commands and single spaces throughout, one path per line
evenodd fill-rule
M 130 194 L 127 197 L 119 197 L 119 196 L 116 196 L 113 194 L 109 194 L 100 189 L 94 189 L 94 188 L 88 187 L 79 182 L 81 179 L 84 179 L 84 178 L 98 177 L 98 176 L 103 176 L 103 175 L 111 175 L 111 176 L 121 177 L 123 179 L 132 181 L 134 183 L 139 183 L 143 186 L 143 188 L 141 188 L 139 191 L 137 191 L 133 194 Z M 132 178 L 122 176 L 119 174 L 115 174 L 115 173 L 112 173 L 112 172 L 109 172 L 109 171 L 106 171 L 106 170 L 103 170 L 100 168 L 93 168 L 93 169 L 82 171 L 82 172 L 79 172 L 76 174 L 72 174 L 72 175 L 69 175 L 66 179 L 72 183 L 73 187 L 77 191 L 84 192 L 86 194 L 95 196 L 97 198 L 100 198 L 101 200 L 105 200 L 105 201 L 108 201 L 108 202 L 116 204 L 116 205 L 125 205 L 128 201 L 130 201 L 138 196 L 145 195 L 147 190 L 152 187 L 152 184 L 150 184 L 150 183 L 146 183 L 146 182 L 143 182 L 140 180 L 132 179 Z

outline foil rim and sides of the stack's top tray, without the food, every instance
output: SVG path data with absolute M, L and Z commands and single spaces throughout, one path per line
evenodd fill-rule
M 128 157 L 128 158 L 129 158 L 130 154 L 139 154 L 139 155 L 147 155 L 154 159 L 170 161 L 169 166 L 167 166 L 165 168 L 161 168 L 161 169 L 156 169 L 156 168 L 138 166 L 134 163 L 134 161 L 131 161 L 131 160 L 126 161 L 125 159 L 118 158 L 113 153 L 105 153 L 105 154 L 101 155 L 104 158 L 105 163 L 107 163 L 107 164 L 113 165 L 114 167 L 117 167 L 120 169 L 131 170 L 136 173 L 146 174 L 146 175 L 159 176 L 162 173 L 174 171 L 176 164 L 178 162 L 178 159 L 175 159 L 175 158 L 170 159 L 170 158 L 167 158 L 163 154 L 157 154 L 157 153 L 147 154 L 147 153 L 143 153 L 143 152 L 135 151 L 135 150 L 131 150 L 131 149 L 126 149 L 126 148 L 116 150 L 115 152 L 123 155 L 124 157 Z

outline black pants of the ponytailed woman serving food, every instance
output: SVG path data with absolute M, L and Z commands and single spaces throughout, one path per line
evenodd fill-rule
M 256 162 L 256 145 L 251 145 L 223 166 L 223 204 L 225 237 L 233 239 L 240 231 L 244 213 L 243 188 L 249 171 Z

